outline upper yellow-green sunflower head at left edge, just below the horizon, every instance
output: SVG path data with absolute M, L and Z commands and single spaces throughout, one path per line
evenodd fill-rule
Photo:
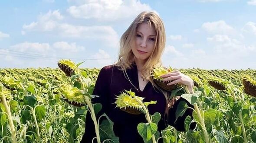
M 21 89 L 20 81 L 12 78 L 12 77 L 1 77 L 0 82 L 5 86 L 7 89 L 15 90 L 15 89 Z

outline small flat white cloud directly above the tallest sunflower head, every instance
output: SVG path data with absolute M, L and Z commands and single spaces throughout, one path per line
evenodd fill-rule
M 76 43 L 67 43 L 65 41 L 61 42 L 55 42 L 53 43 L 53 48 L 62 50 L 62 51 L 68 51 L 68 52 L 78 52 L 78 51 L 84 51 L 85 48 L 83 46 L 78 46 Z

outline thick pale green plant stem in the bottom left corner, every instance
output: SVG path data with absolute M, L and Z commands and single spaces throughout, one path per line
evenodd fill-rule
M 3 102 L 3 106 L 4 106 L 4 108 L 7 112 L 7 115 L 8 115 L 8 120 L 9 120 L 9 124 L 10 124 L 10 128 L 11 128 L 11 132 L 12 132 L 12 143 L 17 143 L 16 130 L 15 130 L 15 127 L 14 127 L 14 124 L 13 124 L 13 119 L 12 119 L 12 114 L 11 114 L 11 111 L 10 111 L 10 106 L 7 104 L 5 96 L 1 97 L 1 101 Z

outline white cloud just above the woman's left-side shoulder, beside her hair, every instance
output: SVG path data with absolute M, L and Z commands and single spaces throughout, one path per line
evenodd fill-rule
M 92 55 L 92 58 L 99 59 L 96 60 L 100 65 L 99 67 L 114 64 L 110 55 L 102 49 L 99 49 L 96 54 Z

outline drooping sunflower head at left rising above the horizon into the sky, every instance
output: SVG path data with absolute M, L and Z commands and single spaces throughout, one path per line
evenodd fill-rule
M 71 60 L 59 60 L 58 66 L 67 76 L 71 76 L 72 73 L 75 73 L 78 69 Z

